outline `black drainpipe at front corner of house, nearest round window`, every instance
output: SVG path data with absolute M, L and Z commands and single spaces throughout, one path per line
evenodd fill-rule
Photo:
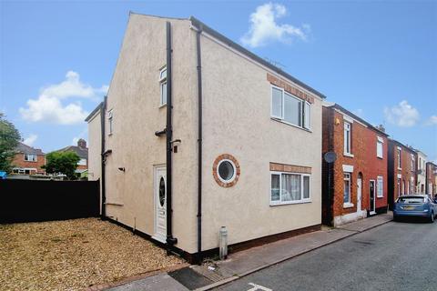
M 202 58 L 200 55 L 201 28 L 196 35 L 198 51 L 198 264 L 202 261 Z

